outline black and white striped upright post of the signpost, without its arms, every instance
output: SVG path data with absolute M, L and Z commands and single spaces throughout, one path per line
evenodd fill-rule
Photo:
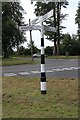
M 46 94 L 46 72 L 45 72 L 45 52 L 44 52 L 44 28 L 41 22 L 41 94 Z

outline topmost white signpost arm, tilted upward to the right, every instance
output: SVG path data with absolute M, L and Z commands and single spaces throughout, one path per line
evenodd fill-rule
M 39 22 L 43 22 L 46 21 L 48 18 L 53 16 L 53 10 L 49 11 L 48 13 L 46 13 L 44 16 L 40 16 L 38 18 L 36 18 L 35 20 L 33 20 L 31 22 L 32 25 L 37 24 Z

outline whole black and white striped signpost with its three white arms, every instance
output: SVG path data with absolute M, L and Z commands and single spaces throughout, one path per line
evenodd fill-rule
M 29 21 L 29 25 L 21 26 L 21 30 L 29 30 L 30 31 L 30 38 L 32 40 L 31 31 L 32 30 L 40 30 L 41 31 L 41 94 L 46 94 L 46 72 L 45 72 L 45 52 L 44 52 L 44 30 L 56 32 L 56 28 L 45 26 L 43 22 L 53 16 L 53 10 L 46 13 L 44 16 L 40 16 L 33 20 L 32 22 Z M 40 22 L 41 26 L 36 25 Z

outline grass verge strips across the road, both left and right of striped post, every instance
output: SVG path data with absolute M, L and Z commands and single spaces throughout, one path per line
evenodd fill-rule
M 49 59 L 78 59 L 80 56 L 48 56 Z M 30 56 L 28 57 L 11 57 L 0 60 L 0 66 L 10 66 L 10 65 L 21 65 L 21 64 L 36 64 L 39 63 L 39 60 L 31 60 Z

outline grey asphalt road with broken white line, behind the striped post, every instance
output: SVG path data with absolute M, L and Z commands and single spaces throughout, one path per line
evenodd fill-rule
M 47 77 L 79 77 L 80 60 L 46 59 Z M 2 76 L 40 77 L 40 63 L 33 65 L 15 65 L 2 67 Z

